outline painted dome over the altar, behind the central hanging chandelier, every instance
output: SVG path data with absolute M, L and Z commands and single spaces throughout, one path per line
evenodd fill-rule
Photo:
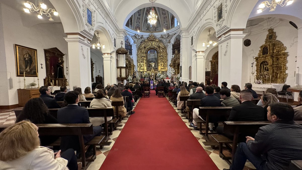
M 155 14 L 158 17 L 156 24 L 151 27 L 147 22 L 151 9 L 152 7 L 147 7 L 136 11 L 128 19 L 126 27 L 134 30 L 156 32 L 168 30 L 178 25 L 178 21 L 173 14 L 163 8 L 154 7 Z

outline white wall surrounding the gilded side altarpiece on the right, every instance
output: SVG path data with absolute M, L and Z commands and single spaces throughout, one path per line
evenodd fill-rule
M 250 35 L 243 38 L 244 40 L 250 39 L 251 45 L 249 47 L 246 47 L 243 45 L 243 60 L 242 60 L 242 85 L 244 86 L 244 83 L 249 82 L 249 77 L 251 76 L 251 83 L 253 83 L 253 77 L 252 77 L 252 62 L 253 58 L 252 56 L 258 56 L 258 52 L 260 50 L 260 46 L 264 44 L 266 35 L 268 34 L 268 29 L 262 29 L 261 27 L 257 27 L 258 29 L 251 29 L 252 32 L 249 32 L 248 28 L 244 31 L 244 33 L 248 33 Z M 288 52 L 288 70 L 286 73 L 288 73 L 288 77 L 286 79 L 286 84 L 295 86 L 295 77 L 294 73 L 296 71 L 296 56 L 297 56 L 297 41 L 298 41 L 298 30 L 294 28 L 293 26 L 288 24 L 287 20 L 283 20 L 280 22 L 279 25 L 273 27 L 274 31 L 277 35 L 277 40 L 281 41 L 284 46 L 287 47 L 286 52 Z M 260 31 L 260 32 L 258 32 Z M 255 32 L 258 32 L 256 34 L 253 34 Z M 254 74 L 255 76 L 255 74 Z

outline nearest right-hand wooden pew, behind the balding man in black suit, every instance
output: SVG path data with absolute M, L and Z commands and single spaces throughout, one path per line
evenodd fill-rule
M 302 125 L 302 121 L 295 121 L 295 123 Z M 226 121 L 224 122 L 223 132 L 233 134 L 233 144 L 232 144 L 232 159 L 236 152 L 238 144 L 239 133 L 257 133 L 258 129 L 262 126 L 271 124 L 269 121 Z

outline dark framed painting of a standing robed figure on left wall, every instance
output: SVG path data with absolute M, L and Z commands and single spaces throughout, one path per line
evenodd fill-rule
M 37 50 L 15 44 L 17 77 L 38 77 Z

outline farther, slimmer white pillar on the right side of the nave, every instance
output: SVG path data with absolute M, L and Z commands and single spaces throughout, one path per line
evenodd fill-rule
M 204 51 L 197 51 L 195 57 L 195 67 L 194 70 L 195 79 L 194 81 L 201 83 L 205 81 L 205 61 L 204 61 Z

